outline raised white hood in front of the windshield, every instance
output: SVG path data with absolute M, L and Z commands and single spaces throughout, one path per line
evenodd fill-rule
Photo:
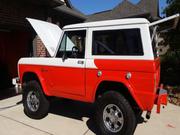
M 62 29 L 60 29 L 59 26 L 55 24 L 45 21 L 31 18 L 26 19 L 30 22 L 30 24 L 44 43 L 51 57 L 54 56 L 62 34 Z

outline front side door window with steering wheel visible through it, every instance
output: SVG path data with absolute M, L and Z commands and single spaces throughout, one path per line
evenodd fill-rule
M 62 58 L 84 58 L 86 31 L 66 31 L 61 40 L 57 57 Z

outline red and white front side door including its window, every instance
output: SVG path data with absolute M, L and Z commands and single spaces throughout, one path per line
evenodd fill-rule
M 55 96 L 85 95 L 85 40 L 86 30 L 66 31 L 62 37 L 52 66 L 45 67 L 47 81 Z

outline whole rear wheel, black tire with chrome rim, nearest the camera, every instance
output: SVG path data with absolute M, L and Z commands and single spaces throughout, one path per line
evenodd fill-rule
M 109 91 L 97 100 L 95 120 L 102 135 L 132 135 L 136 127 L 132 107 L 115 91 Z

